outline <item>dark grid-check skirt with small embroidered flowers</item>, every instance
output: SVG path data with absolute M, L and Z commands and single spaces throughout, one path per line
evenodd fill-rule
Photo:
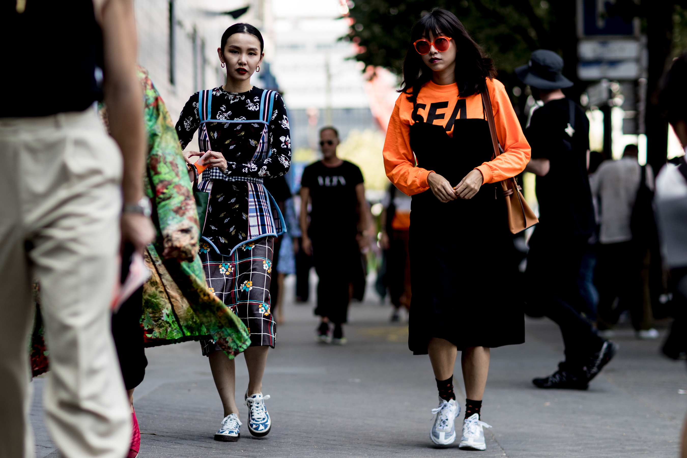
M 200 244 L 207 286 L 246 325 L 251 347 L 274 348 L 277 338 L 269 297 L 273 244 L 273 236 L 259 238 L 241 245 L 231 256 L 218 254 L 203 240 Z M 206 356 L 220 350 L 214 341 L 201 341 L 201 347 Z

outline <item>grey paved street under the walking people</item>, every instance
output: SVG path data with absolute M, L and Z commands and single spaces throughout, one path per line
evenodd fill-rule
M 525 344 L 492 351 L 482 407 L 482 419 L 493 426 L 485 430 L 487 450 L 459 450 L 458 442 L 434 447 L 430 409 L 437 396 L 429 359 L 412 356 L 407 325 L 389 323 L 390 306 L 380 306 L 371 290 L 351 307 L 343 347 L 315 343 L 312 304 L 286 305 L 263 382 L 273 420 L 264 438 L 251 437 L 244 424 L 238 442 L 213 440 L 222 407 L 198 343 L 148 349 L 146 380 L 135 392 L 139 457 L 677 457 L 687 411 L 687 396 L 678 394 L 687 389 L 684 361 L 660 356 L 660 341 L 637 341 L 621 330 L 613 339 L 618 355 L 589 391 L 543 391 L 530 379 L 552 372 L 563 354 L 548 319 L 528 319 Z M 291 289 L 285 297 L 293 297 Z M 464 396 L 460 365 L 455 378 Z M 241 356 L 237 398 L 247 380 Z M 36 450 L 38 458 L 55 458 L 42 420 L 44 381 L 34 382 Z M 245 406 L 240 415 L 245 422 Z

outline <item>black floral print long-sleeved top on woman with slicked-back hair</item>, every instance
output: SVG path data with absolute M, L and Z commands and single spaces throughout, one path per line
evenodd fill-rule
M 207 207 L 203 238 L 212 242 L 218 252 L 227 254 L 239 244 L 249 240 L 249 186 L 255 183 L 229 181 L 242 177 L 270 179 L 289 171 L 291 165 L 291 137 L 289 119 L 284 100 L 277 93 L 267 128 L 269 157 L 258 154 L 264 124 L 235 122 L 260 119 L 260 99 L 264 89 L 253 87 L 244 93 L 229 93 L 222 87 L 212 89 L 212 106 L 207 119 L 226 122 L 206 122 L 210 148 L 221 152 L 227 160 L 227 170 L 206 169 L 201 179 L 213 181 L 210 202 Z M 181 148 L 188 146 L 196 130 L 201 126 L 199 93 L 186 102 L 179 121 L 177 134 Z M 264 139 L 264 137 L 262 137 Z M 262 187 L 262 185 L 260 185 Z M 263 188 L 264 189 L 264 188 Z M 201 249 L 209 249 L 201 242 Z

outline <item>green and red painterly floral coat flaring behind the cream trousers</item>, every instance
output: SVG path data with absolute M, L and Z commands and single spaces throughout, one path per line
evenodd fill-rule
M 234 358 L 250 345 L 250 335 L 236 314 L 205 284 L 198 255 L 198 215 L 179 138 L 162 98 L 148 78 L 148 71 L 138 67 L 138 77 L 144 89 L 144 122 L 148 134 L 144 186 L 153 203 L 152 218 L 157 229 L 157 238 L 145 253 L 152 274 L 143 289 L 141 325 L 145 345 L 154 347 L 212 338 L 229 358 Z M 107 125 L 102 104 L 100 114 Z M 164 260 L 164 249 L 177 251 L 185 260 Z M 47 371 L 49 354 L 43 341 L 38 284 L 34 284 L 34 290 L 38 313 L 30 352 L 36 376 Z

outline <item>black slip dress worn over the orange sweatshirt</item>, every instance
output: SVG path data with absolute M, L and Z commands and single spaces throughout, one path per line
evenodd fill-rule
M 419 117 L 410 127 L 410 146 L 418 167 L 444 176 L 451 186 L 493 155 L 485 119 L 455 119 L 449 137 L 443 126 Z M 496 185 L 484 184 L 470 200 L 449 203 L 431 190 L 412 196 L 408 346 L 414 354 L 427 354 L 433 337 L 458 350 L 525 341 L 517 266 L 510 261 L 513 236 Z

